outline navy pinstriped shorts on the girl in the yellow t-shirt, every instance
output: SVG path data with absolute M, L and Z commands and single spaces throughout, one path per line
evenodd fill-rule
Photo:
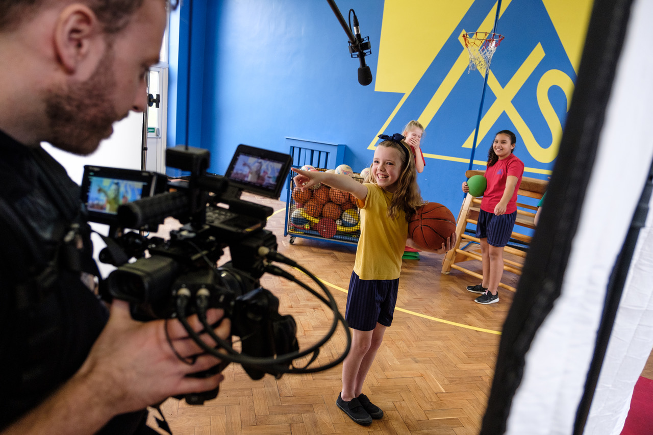
M 372 330 L 377 323 L 392 325 L 394 306 L 397 303 L 399 278 L 396 280 L 361 280 L 351 272 L 345 320 L 349 327 Z

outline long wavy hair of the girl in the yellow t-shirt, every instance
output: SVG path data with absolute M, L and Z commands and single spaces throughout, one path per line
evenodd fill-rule
M 397 189 L 394 191 L 392 201 L 388 206 L 388 217 L 394 217 L 399 210 L 403 210 L 406 214 L 406 221 L 408 221 L 415 213 L 415 210 L 424 203 L 419 191 L 419 185 L 417 185 L 415 157 L 413 157 L 410 147 L 403 141 L 402 144 L 398 144 L 392 140 L 384 140 L 377 146 L 394 148 L 401 157 L 402 170 L 399 174 L 399 180 L 396 181 Z M 372 176 L 370 176 L 370 182 L 377 184 L 376 179 Z

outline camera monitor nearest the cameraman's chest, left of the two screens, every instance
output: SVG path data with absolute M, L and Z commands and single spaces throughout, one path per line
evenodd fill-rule
M 157 177 L 155 172 L 86 165 L 82 202 L 89 219 L 108 225 L 118 223 L 118 207 L 153 195 Z

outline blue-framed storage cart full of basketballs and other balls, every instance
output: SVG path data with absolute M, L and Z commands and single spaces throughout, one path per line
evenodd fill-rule
M 324 172 L 326 169 L 316 168 Z M 291 170 L 288 175 L 288 195 L 284 236 L 290 235 L 291 244 L 296 237 L 327 240 L 343 244 L 358 244 L 360 214 L 356 201 L 349 192 L 315 185 L 301 191 Z M 351 174 L 362 183 L 360 174 Z

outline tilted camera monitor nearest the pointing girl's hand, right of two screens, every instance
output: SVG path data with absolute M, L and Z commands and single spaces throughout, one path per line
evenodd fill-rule
M 225 177 L 240 189 L 278 199 L 291 159 L 288 154 L 240 144 Z

